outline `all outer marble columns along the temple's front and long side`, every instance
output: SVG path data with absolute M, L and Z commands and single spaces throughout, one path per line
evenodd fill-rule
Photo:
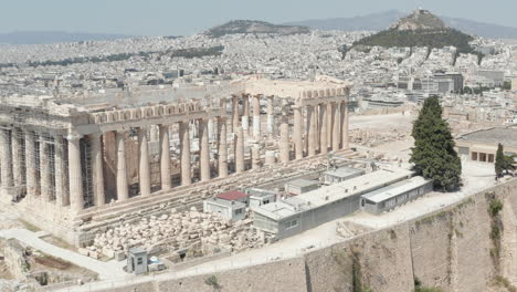
M 234 170 L 243 173 L 244 165 L 244 139 L 245 132 L 249 125 L 250 117 L 250 96 L 243 95 L 244 115 L 240 119 L 239 97 L 233 96 L 232 107 L 233 114 L 230 123 L 225 116 L 217 117 L 217 160 L 219 177 L 229 175 L 228 163 L 228 125 L 232 127 L 234 133 Z M 253 136 L 261 136 L 261 105 L 260 96 L 253 98 Z M 246 109 L 247 108 L 247 109 Z M 320 154 L 326 154 L 330 146 L 333 150 L 339 148 L 348 148 L 348 109 L 346 102 L 341 103 L 321 103 L 316 106 L 305 106 L 307 128 L 305 136 L 304 149 L 304 108 L 302 106 L 294 107 L 294 153 L 295 158 L 300 159 L 306 155 L 316 155 L 318 149 Z M 200 180 L 208 181 L 211 179 L 210 169 L 210 143 L 209 128 L 213 129 L 212 123 L 209 119 L 198 121 L 198 134 L 200 145 Z M 191 174 L 191 142 L 190 142 L 190 121 L 179 122 L 179 142 L 180 142 L 180 179 L 182 186 L 192 184 Z M 273 97 L 268 97 L 267 104 L 267 132 L 274 132 L 274 106 Z M 104 149 L 103 135 L 107 133 L 97 133 L 86 136 L 71 132 L 67 136 L 54 135 L 44 138 L 40 135 L 39 144 L 36 144 L 36 135 L 32 131 L 21 132 L 20 129 L 0 129 L 0 178 L 1 186 L 9 189 L 13 186 L 25 185 L 28 196 L 39 196 L 53 199 L 60 206 L 71 205 L 75 211 L 81 211 L 85 208 L 85 186 L 91 184 L 92 201 L 94 206 L 103 206 L 106 204 L 105 177 L 104 177 Z M 23 137 L 19 139 L 19 134 Z M 161 190 L 168 191 L 172 188 L 171 169 L 170 169 L 170 133 L 169 125 L 158 125 L 159 133 L 159 164 L 160 164 L 160 180 Z M 128 169 L 126 163 L 126 137 L 127 129 L 113 133 L 115 137 L 115 179 L 116 179 L 116 197 L 118 201 L 124 201 L 129 198 Z M 146 128 L 138 128 L 138 178 L 140 195 L 146 197 L 151 195 L 151 174 L 149 160 L 149 137 Z M 291 157 L 291 138 L 289 128 L 286 121 L 282 123 L 279 128 L 279 160 L 287 163 Z M 155 134 L 156 135 L 156 134 Z M 105 136 L 104 136 L 105 137 Z M 83 142 L 83 144 L 82 144 Z M 86 142 L 86 143 L 84 143 Z M 22 145 L 24 146 L 24 161 L 13 159 L 20 156 Z M 36 145 L 38 149 L 36 149 Z M 53 145 L 53 146 L 51 146 Z M 66 148 L 65 148 L 66 145 Z M 88 147 L 84 146 L 88 145 Z M 53 150 L 51 153 L 51 149 Z M 252 167 L 256 168 L 260 165 L 260 150 L 252 149 Z M 36 159 L 36 154 L 39 159 Z M 270 152 L 268 161 L 274 163 L 274 156 Z M 87 157 L 87 158 L 86 158 Z M 273 159 L 272 159 L 273 157 Z M 52 161 L 52 163 L 51 163 Z M 66 164 L 67 161 L 67 164 Z M 84 165 L 89 163 L 87 167 Z M 36 167 L 39 166 L 39 167 Z M 22 170 L 25 169 L 25 170 Z M 85 169 L 89 169 L 89 182 L 84 178 Z M 22 175 L 23 174 L 23 175 Z M 52 175 L 53 174 L 53 175 Z M 53 195 L 55 194 L 55 195 Z M 89 197 L 88 197 L 89 201 Z

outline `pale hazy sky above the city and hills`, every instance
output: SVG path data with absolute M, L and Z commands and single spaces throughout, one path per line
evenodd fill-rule
M 517 27 L 517 0 L 1 0 L 0 32 L 184 35 L 233 19 L 282 23 L 418 7 L 440 15 Z

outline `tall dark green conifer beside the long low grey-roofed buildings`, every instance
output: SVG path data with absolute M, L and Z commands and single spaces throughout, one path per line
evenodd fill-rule
M 454 150 L 454 139 L 436 96 L 425 100 L 413 124 L 414 147 L 410 163 L 413 170 L 432 179 L 434 188 L 454 190 L 460 187 L 462 164 Z

